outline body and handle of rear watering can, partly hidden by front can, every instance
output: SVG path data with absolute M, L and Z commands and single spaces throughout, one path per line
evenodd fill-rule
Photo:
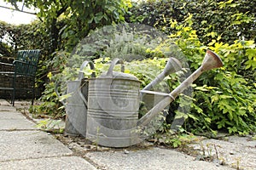
M 94 70 L 94 65 L 91 61 L 84 61 L 80 66 L 79 78 L 74 81 L 67 82 L 67 94 L 71 94 L 66 101 L 61 101 L 65 106 L 66 121 L 65 121 L 65 135 L 69 136 L 86 136 L 86 122 L 87 122 L 87 98 L 88 98 L 88 79 L 84 78 L 83 69 L 90 65 L 90 69 Z M 91 74 L 95 77 L 95 73 Z M 59 83 L 56 83 L 55 92 L 58 93 Z

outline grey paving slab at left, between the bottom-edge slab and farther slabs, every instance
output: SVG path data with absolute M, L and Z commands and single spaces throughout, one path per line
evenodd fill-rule
M 73 152 L 41 131 L 0 131 L 0 161 L 67 156 Z

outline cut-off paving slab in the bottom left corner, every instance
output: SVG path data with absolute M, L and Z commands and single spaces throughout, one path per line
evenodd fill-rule
M 0 161 L 0 170 L 96 170 L 88 161 L 78 156 L 48 157 L 20 161 Z

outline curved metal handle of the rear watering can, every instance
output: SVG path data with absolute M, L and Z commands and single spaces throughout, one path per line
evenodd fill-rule
M 87 61 L 87 60 L 85 60 L 85 61 L 83 62 L 83 64 L 81 65 L 80 71 L 79 71 L 79 81 L 80 81 L 81 83 L 82 83 L 82 80 L 84 79 L 84 74 L 83 74 L 84 67 L 87 66 L 88 64 L 90 65 L 90 69 L 91 69 L 91 70 L 95 70 L 95 67 L 94 67 L 94 65 L 93 65 L 93 62 L 92 62 L 92 61 Z M 91 73 L 91 77 L 96 77 L 95 72 L 92 72 L 92 73 Z M 82 84 L 81 84 L 81 85 L 82 85 Z M 84 94 L 82 94 L 82 91 L 81 91 L 81 90 L 82 90 L 82 88 L 79 89 L 79 96 L 80 96 L 81 99 L 83 100 L 85 107 L 88 107 L 87 99 L 85 99 Z

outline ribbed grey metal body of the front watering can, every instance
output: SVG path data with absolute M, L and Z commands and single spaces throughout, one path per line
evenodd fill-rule
M 111 69 L 90 79 L 86 137 L 108 147 L 136 144 L 139 90 L 137 77 Z

